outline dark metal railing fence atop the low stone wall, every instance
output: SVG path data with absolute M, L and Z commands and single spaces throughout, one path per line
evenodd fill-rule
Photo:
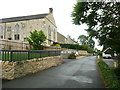
M 47 50 L 0 50 L 0 60 L 2 61 L 22 61 L 34 58 L 61 55 L 61 51 Z

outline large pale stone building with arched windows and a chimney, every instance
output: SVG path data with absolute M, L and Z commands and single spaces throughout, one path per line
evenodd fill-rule
M 0 39 L 26 42 L 31 31 L 43 30 L 47 36 L 44 45 L 57 42 L 57 26 L 53 17 L 53 9 L 49 13 L 0 19 Z

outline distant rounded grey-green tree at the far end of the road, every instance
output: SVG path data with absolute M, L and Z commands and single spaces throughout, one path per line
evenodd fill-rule
M 80 35 L 78 37 L 78 40 L 80 40 L 82 45 L 88 44 L 90 48 L 94 48 L 95 42 L 91 37 Z

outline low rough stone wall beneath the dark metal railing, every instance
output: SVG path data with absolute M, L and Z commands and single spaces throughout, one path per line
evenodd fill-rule
M 44 69 L 62 64 L 61 56 L 44 57 L 25 61 L 2 61 L 2 79 L 13 80 L 27 74 L 36 73 Z

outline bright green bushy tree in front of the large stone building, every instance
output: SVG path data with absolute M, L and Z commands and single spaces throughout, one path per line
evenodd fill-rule
M 34 30 L 33 32 L 30 32 L 30 36 L 27 37 L 26 40 L 33 46 L 33 49 L 40 50 L 43 49 L 41 44 L 46 40 L 46 36 L 42 30 Z

